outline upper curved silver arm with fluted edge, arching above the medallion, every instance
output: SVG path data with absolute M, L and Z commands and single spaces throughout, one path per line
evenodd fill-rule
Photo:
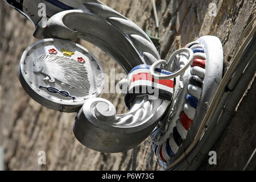
M 88 8 L 94 12 L 100 7 L 88 3 Z M 114 11 L 112 16 L 107 16 L 109 8 L 106 13 L 102 12 L 105 9 L 100 10 L 98 14 L 102 16 L 84 10 L 67 10 L 53 15 L 44 35 L 69 40 L 77 36 L 87 40 L 112 56 L 127 73 L 139 64 L 152 64 L 160 59 L 150 38 L 135 23 Z

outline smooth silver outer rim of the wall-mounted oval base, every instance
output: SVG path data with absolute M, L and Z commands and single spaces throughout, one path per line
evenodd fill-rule
M 186 139 L 184 140 L 182 146 L 179 148 L 176 157 L 172 159 L 172 161 L 180 156 L 180 154 L 183 154 L 185 148 L 187 148 L 196 137 L 195 135 L 197 134 L 197 131 L 201 126 L 201 122 L 203 121 L 204 116 L 208 111 L 208 104 L 212 102 L 212 98 L 216 93 L 216 90 L 220 85 L 222 79 L 223 51 L 220 39 L 216 38 L 215 36 L 203 36 L 197 39 L 196 42 L 203 43 L 205 47 L 205 54 L 207 55 L 207 60 L 205 64 L 204 84 L 199 104 L 196 109 L 195 117 L 193 118 L 191 129 L 188 130 Z M 187 74 L 187 76 L 190 76 L 191 72 L 188 70 L 185 74 Z M 189 84 L 189 80 L 184 81 L 183 84 L 184 88 L 182 89 L 182 91 L 180 90 L 180 96 L 176 98 L 177 105 L 175 109 L 175 114 L 170 117 L 172 121 L 176 121 L 176 119 L 179 118 L 179 113 L 183 109 L 182 103 L 185 102 L 185 95 L 188 92 L 187 85 Z M 170 163 L 172 161 L 170 161 Z

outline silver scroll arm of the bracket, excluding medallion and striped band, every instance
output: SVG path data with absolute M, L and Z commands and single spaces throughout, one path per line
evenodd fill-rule
M 35 10 L 40 2 L 46 4 L 50 17 L 46 28 L 39 27 L 42 19 Z M 45 38 L 87 40 L 112 56 L 126 73 L 139 64 L 151 65 L 160 59 L 154 44 L 141 28 L 98 1 L 24 0 L 22 6 L 19 11 L 37 28 L 42 28 L 43 31 L 38 32 L 43 32 Z M 93 150 L 126 151 L 150 135 L 169 104 L 160 99 L 148 100 L 147 96 L 137 97 L 129 113 L 117 115 L 111 102 L 92 98 L 77 114 L 73 131 L 82 144 Z

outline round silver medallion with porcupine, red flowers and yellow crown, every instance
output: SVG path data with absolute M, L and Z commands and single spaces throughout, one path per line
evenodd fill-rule
M 105 84 L 99 61 L 79 44 L 43 39 L 28 47 L 20 60 L 19 80 L 24 90 L 50 109 L 75 112 Z

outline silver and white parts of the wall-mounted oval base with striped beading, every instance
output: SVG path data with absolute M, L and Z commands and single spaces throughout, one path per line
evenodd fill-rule
M 203 68 L 200 70 L 200 67 L 189 67 L 189 69 L 185 70 L 183 75 L 180 75 L 179 88 L 176 89 L 177 93 L 174 98 L 174 106 L 172 107 L 170 114 L 168 114 L 168 117 L 161 119 L 158 129 L 151 134 L 151 138 L 154 141 L 153 148 L 156 150 L 156 156 L 158 156 L 160 159 L 159 162 L 164 167 L 174 163 L 193 142 L 193 139 L 196 137 L 197 131 L 202 124 L 201 122 L 208 111 L 208 105 L 212 102 L 212 98 L 216 93 L 222 78 L 223 55 L 220 40 L 215 36 L 203 36 L 195 42 L 192 42 L 191 45 L 193 45 L 193 48 L 204 48 L 205 52 L 203 54 L 196 52 L 193 59 L 204 57 L 205 70 Z M 171 63 L 170 71 L 174 72 L 177 69 L 180 70 L 180 68 L 184 68 L 188 62 L 188 55 L 180 55 L 180 57 Z M 195 71 L 195 68 L 198 68 L 198 70 Z M 195 75 L 200 76 L 203 79 L 202 88 L 199 88 L 196 85 L 193 86 L 193 82 L 189 79 L 194 75 L 194 72 L 196 73 Z M 194 90 L 191 89 L 191 87 L 194 87 Z M 193 108 L 188 104 L 188 93 L 197 98 L 198 104 L 196 108 Z M 184 125 L 181 125 L 182 112 L 187 114 L 187 117 L 192 121 L 189 129 L 184 129 Z M 174 128 L 176 128 L 182 139 L 182 142 L 179 144 L 175 141 Z M 165 146 L 167 141 L 170 141 L 169 144 L 174 153 L 172 154 L 172 157 L 169 157 L 169 154 L 166 154 L 167 150 Z M 162 162 L 161 157 L 158 155 L 159 146 L 163 146 L 162 152 L 165 153 L 162 153 L 162 155 L 166 156 L 166 163 Z M 184 162 L 184 164 L 187 163 Z

